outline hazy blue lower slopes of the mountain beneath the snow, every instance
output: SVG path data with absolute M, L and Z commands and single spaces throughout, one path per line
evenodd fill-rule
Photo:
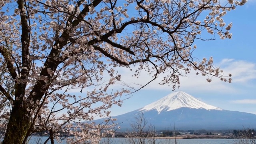
M 130 123 L 134 122 L 138 110 L 128 112 L 117 118 L 121 130 L 130 128 Z M 144 112 L 144 117 L 150 124 L 153 124 L 156 130 L 164 130 L 167 128 L 175 128 L 181 130 L 233 130 L 242 128 L 255 128 L 256 115 L 245 112 L 229 111 L 229 110 L 205 110 L 178 108 L 168 112 L 158 114 L 156 110 Z

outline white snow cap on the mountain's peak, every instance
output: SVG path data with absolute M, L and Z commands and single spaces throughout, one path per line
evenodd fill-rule
M 173 92 L 168 94 L 164 98 L 148 104 L 140 109 L 140 111 L 150 111 L 150 110 L 157 110 L 158 114 L 162 111 L 170 111 L 175 110 L 178 108 L 196 108 L 196 109 L 206 109 L 206 110 L 222 110 L 215 106 L 211 106 L 206 104 L 190 94 L 186 92 Z

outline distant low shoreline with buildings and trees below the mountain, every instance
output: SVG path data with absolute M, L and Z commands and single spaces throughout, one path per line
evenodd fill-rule
M 60 133 L 63 137 L 70 137 L 65 133 Z M 33 136 L 49 136 L 48 132 L 38 132 Z M 234 138 L 256 138 L 254 129 L 247 130 L 160 130 L 157 132 L 115 132 L 115 135 L 106 137 L 115 138 L 170 138 L 170 139 L 234 139 Z

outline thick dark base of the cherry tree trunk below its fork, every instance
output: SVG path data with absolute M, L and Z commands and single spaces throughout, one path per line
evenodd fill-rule
M 30 118 L 26 114 L 25 108 L 14 106 L 2 144 L 22 144 L 30 126 Z

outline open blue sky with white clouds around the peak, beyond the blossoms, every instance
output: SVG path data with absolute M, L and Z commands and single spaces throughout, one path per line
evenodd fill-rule
M 213 56 L 214 64 L 220 66 L 225 74 L 232 73 L 232 83 L 213 79 L 206 82 L 206 77 L 194 73 L 181 78 L 181 85 L 176 91 L 188 94 L 225 110 L 236 110 L 256 114 L 256 0 L 248 0 L 244 6 L 228 12 L 226 23 L 232 22 L 232 39 L 197 41 L 194 56 L 202 59 Z M 122 74 L 122 71 L 121 71 Z M 130 74 L 132 75 L 132 74 Z M 129 72 L 123 72 L 122 78 L 129 82 L 146 80 L 133 79 Z M 125 100 L 122 107 L 114 106 L 112 116 L 136 110 L 154 102 L 172 92 L 172 87 L 160 86 L 158 81 L 133 94 Z M 125 80 L 124 80 L 125 81 Z

